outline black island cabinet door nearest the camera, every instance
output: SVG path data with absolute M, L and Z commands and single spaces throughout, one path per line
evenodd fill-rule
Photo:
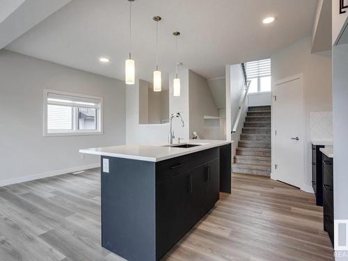
M 157 260 L 189 230 L 189 171 L 157 184 Z

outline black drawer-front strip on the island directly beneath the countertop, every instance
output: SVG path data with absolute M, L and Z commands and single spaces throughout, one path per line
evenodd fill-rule
M 174 175 L 219 158 L 219 148 L 211 148 L 156 163 L 156 181 L 166 180 Z

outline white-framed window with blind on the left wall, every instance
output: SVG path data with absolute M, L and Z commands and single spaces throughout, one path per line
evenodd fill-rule
M 44 91 L 44 136 L 102 134 L 102 98 Z

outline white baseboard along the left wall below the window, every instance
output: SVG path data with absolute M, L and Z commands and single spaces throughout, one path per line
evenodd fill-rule
M 53 177 L 56 175 L 62 175 L 62 174 L 66 174 L 66 173 L 84 171 L 88 168 L 97 168 L 97 167 L 100 167 L 100 163 L 89 164 L 89 165 L 85 165 L 85 166 L 78 166 L 78 167 L 74 167 L 74 168 L 64 168 L 64 169 L 60 169 L 57 171 L 49 171 L 49 172 L 45 172 L 45 173 L 23 176 L 23 177 L 15 177 L 12 179 L 7 179 L 7 180 L 0 180 L 0 187 L 7 186 L 10 184 L 27 182 L 27 181 L 31 181 L 31 180 L 40 180 L 40 179 L 45 178 L 45 177 Z

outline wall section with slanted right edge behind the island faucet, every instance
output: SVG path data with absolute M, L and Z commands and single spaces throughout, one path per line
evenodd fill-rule
M 205 139 L 204 116 L 219 116 L 207 79 L 189 70 L 189 135 L 197 132 Z

